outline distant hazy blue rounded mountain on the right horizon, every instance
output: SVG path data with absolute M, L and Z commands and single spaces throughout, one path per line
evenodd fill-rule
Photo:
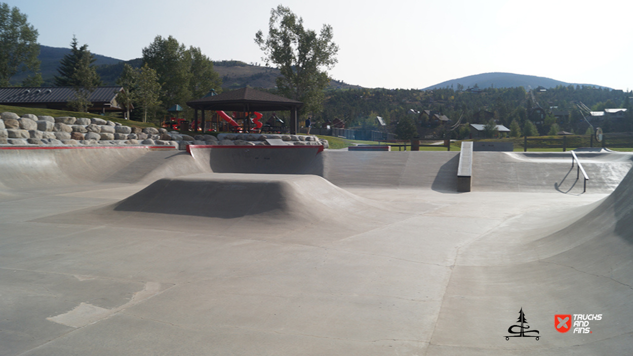
M 478 86 L 481 89 L 489 87 L 524 87 L 525 89 L 536 89 L 537 87 L 553 88 L 556 86 L 594 86 L 592 84 L 575 84 L 561 82 L 560 80 L 549 79 L 544 77 L 536 77 L 534 75 L 522 75 L 513 73 L 482 73 L 477 75 L 468 75 L 460 79 L 447 80 L 434 86 L 426 87 L 423 90 L 439 89 L 452 87 L 457 89 L 458 84 L 464 86 L 464 89 Z M 603 86 L 594 86 L 603 88 Z

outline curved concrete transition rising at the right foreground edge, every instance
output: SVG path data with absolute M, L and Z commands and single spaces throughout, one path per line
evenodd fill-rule
M 603 200 L 571 209 L 544 207 L 507 220 L 464 246 L 437 322 L 442 333 L 432 340 L 436 345 L 430 346 L 430 353 L 467 350 L 479 354 L 503 348 L 512 355 L 629 354 L 633 336 L 629 322 L 633 318 L 632 196 L 633 170 Z M 553 319 L 555 314 L 603 317 L 589 322 L 591 333 L 589 329 L 576 333 L 573 324 L 565 334 L 551 325 L 531 324 L 532 329 L 540 330 L 537 343 L 506 341 L 503 336 L 509 334 L 501 332 L 503 327 L 473 327 L 485 318 L 496 323 L 503 320 L 510 326 L 518 306 L 526 315 L 530 311 L 528 321 L 530 317 L 534 321 Z M 517 310 L 508 312 L 512 307 Z M 455 310 L 470 312 L 451 314 Z M 453 332 L 465 337 L 459 342 L 449 340 Z M 484 342 L 491 333 L 499 334 L 499 340 Z

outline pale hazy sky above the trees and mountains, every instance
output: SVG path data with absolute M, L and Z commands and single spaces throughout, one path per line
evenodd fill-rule
M 508 72 L 633 89 L 632 0 L 8 0 L 45 46 L 131 60 L 172 35 L 211 60 L 263 63 L 255 44 L 279 4 L 304 26 L 332 26 L 330 77 L 348 84 L 422 89 Z

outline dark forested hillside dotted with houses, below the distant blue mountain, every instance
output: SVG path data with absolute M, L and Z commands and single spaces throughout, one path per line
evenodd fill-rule
M 611 122 L 592 122 L 596 127 L 603 127 L 605 132 L 633 130 L 633 117 L 630 98 L 633 92 L 594 87 L 558 86 L 547 91 L 535 91 L 534 99 L 523 87 L 487 88 L 481 92 L 456 91 L 454 89 L 420 90 L 387 90 L 387 89 L 351 89 L 329 91 L 322 114 L 317 120 L 334 120 L 339 118 L 347 127 L 363 129 L 380 129 L 377 116 L 389 123 L 389 131 L 394 132 L 399 120 L 411 118 L 423 136 L 441 137 L 446 127 L 454 127 L 451 137 L 463 138 L 468 134 L 467 124 L 488 124 L 494 120 L 496 124 L 510 128 L 513 120 L 520 129 L 524 129 L 528 121 L 534 123 L 539 134 L 548 134 L 552 125 L 561 130 L 584 134 L 589 124 L 577 107 L 584 103 L 594 111 L 605 108 L 627 108 L 625 120 Z M 535 108 L 542 108 L 546 113 L 544 119 L 537 117 Z M 446 115 L 451 123 L 446 125 L 434 122 L 425 113 L 432 110 Z M 558 115 L 556 117 L 555 115 Z

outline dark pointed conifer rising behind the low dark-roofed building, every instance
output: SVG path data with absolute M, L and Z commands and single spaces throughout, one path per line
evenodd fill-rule
M 94 66 L 94 62 L 96 60 L 97 59 L 94 58 L 94 54 L 88 50 L 88 45 L 84 44 L 83 46 L 79 46 L 77 37 L 73 36 L 73 41 L 70 43 L 70 53 L 66 54 L 61 59 L 60 67 L 57 68 L 57 72 L 60 73 L 60 75 L 56 75 L 54 77 L 54 85 L 58 87 L 81 86 L 81 79 L 75 75 L 77 67 L 83 65 L 86 68 L 91 68 L 91 70 L 97 74 Z M 83 63 L 80 64 L 82 61 Z M 82 68 L 82 70 L 86 69 Z M 97 74 L 96 86 L 99 85 L 101 85 L 101 78 Z

